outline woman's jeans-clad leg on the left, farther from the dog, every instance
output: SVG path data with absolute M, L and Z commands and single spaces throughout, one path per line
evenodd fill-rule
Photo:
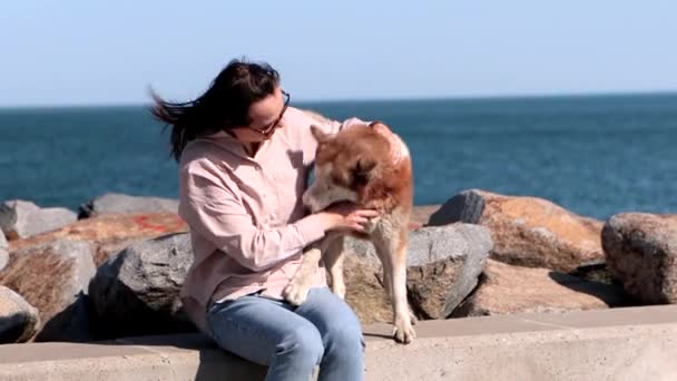
M 268 365 L 266 380 L 308 380 L 322 359 L 323 339 L 313 323 L 291 309 L 279 301 L 248 295 L 213 305 L 207 323 L 220 348 Z

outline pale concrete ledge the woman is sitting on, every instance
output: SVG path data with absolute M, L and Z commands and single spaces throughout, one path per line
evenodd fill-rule
M 367 380 L 677 380 L 677 306 L 429 321 L 411 345 L 365 328 Z M 0 380 L 263 380 L 197 334 L 0 345 Z

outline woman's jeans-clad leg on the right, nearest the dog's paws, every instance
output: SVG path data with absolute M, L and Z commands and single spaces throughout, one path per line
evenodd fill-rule
M 353 310 L 327 287 L 311 289 L 295 311 L 320 331 L 324 355 L 320 381 L 364 379 L 364 341 L 360 320 Z

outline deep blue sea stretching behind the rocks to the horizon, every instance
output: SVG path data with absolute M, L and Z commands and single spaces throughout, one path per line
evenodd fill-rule
M 295 106 L 387 123 L 412 153 L 419 205 L 481 188 L 600 219 L 677 213 L 677 95 Z M 145 106 L 0 109 L 0 201 L 77 209 L 107 192 L 177 197 L 168 139 Z

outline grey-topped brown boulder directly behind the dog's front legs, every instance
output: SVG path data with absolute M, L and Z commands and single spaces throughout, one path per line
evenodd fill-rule
M 422 319 L 444 319 L 474 289 L 492 243 L 481 226 L 423 227 L 409 235 L 406 286 Z M 363 323 L 389 322 L 392 307 L 371 243 L 346 238 L 346 300 Z

